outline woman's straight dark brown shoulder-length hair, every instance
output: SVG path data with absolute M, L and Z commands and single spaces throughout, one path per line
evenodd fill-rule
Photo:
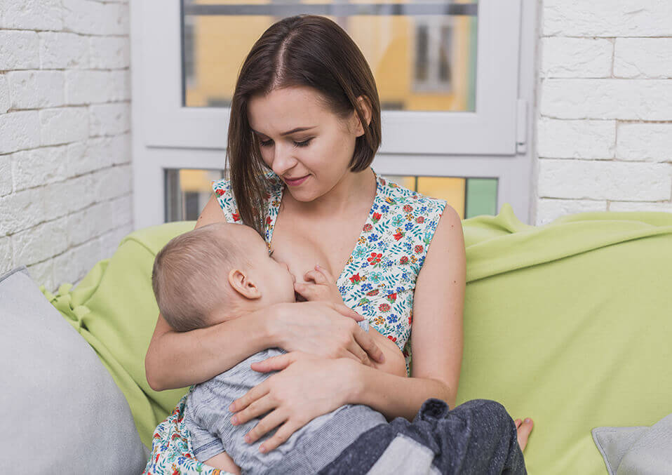
M 252 47 L 238 74 L 231 100 L 227 160 L 238 211 L 246 225 L 264 236 L 267 212 L 268 167 L 248 121 L 253 95 L 275 89 L 307 86 L 320 96 L 323 107 L 338 119 L 356 110 L 364 135 L 356 138 L 351 171 L 370 166 L 381 140 L 378 91 L 364 55 L 350 36 L 332 20 L 318 15 L 297 15 L 271 25 Z M 368 99 L 371 119 L 358 103 Z

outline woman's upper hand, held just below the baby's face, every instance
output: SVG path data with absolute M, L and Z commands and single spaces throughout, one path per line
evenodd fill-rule
M 286 352 L 300 351 L 323 358 L 350 358 L 367 366 L 384 362 L 373 337 L 356 323 L 363 316 L 344 304 L 295 302 L 278 304 L 271 332 Z M 348 318 L 346 318 L 348 317 Z

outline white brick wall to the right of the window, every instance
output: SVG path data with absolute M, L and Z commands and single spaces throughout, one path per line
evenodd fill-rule
M 539 2 L 535 224 L 672 212 L 672 1 Z

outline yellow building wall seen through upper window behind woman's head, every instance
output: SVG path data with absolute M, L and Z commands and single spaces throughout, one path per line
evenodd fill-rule
M 234 4 L 234 0 L 200 0 L 197 4 Z M 250 0 L 251 4 L 268 4 Z M 301 3 L 330 3 L 302 1 Z M 353 1 L 352 3 L 361 3 Z M 368 1 L 365 3 L 369 3 Z M 384 1 L 384 3 L 398 3 Z M 327 15 L 325 15 L 327 16 Z M 337 18 L 327 16 L 331 20 Z M 197 15 L 194 17 L 194 80 L 186 86 L 188 107 L 207 106 L 210 100 L 229 101 L 238 72 L 250 47 L 272 23 L 266 15 Z M 466 110 L 469 96 L 469 17 L 452 17 L 450 90 L 413 90 L 415 21 L 402 15 L 354 15 L 344 29 L 356 42 L 375 76 L 381 102 L 403 105 L 403 110 Z M 436 61 L 436 58 L 429 58 Z

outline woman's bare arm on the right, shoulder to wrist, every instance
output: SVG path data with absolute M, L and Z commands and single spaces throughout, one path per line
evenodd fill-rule
M 356 384 L 348 402 L 371 406 L 388 420 L 399 416 L 412 420 L 431 397 L 454 408 L 462 366 L 465 286 L 462 222 L 455 210 L 446 206 L 416 282 L 411 377 L 354 364 Z

